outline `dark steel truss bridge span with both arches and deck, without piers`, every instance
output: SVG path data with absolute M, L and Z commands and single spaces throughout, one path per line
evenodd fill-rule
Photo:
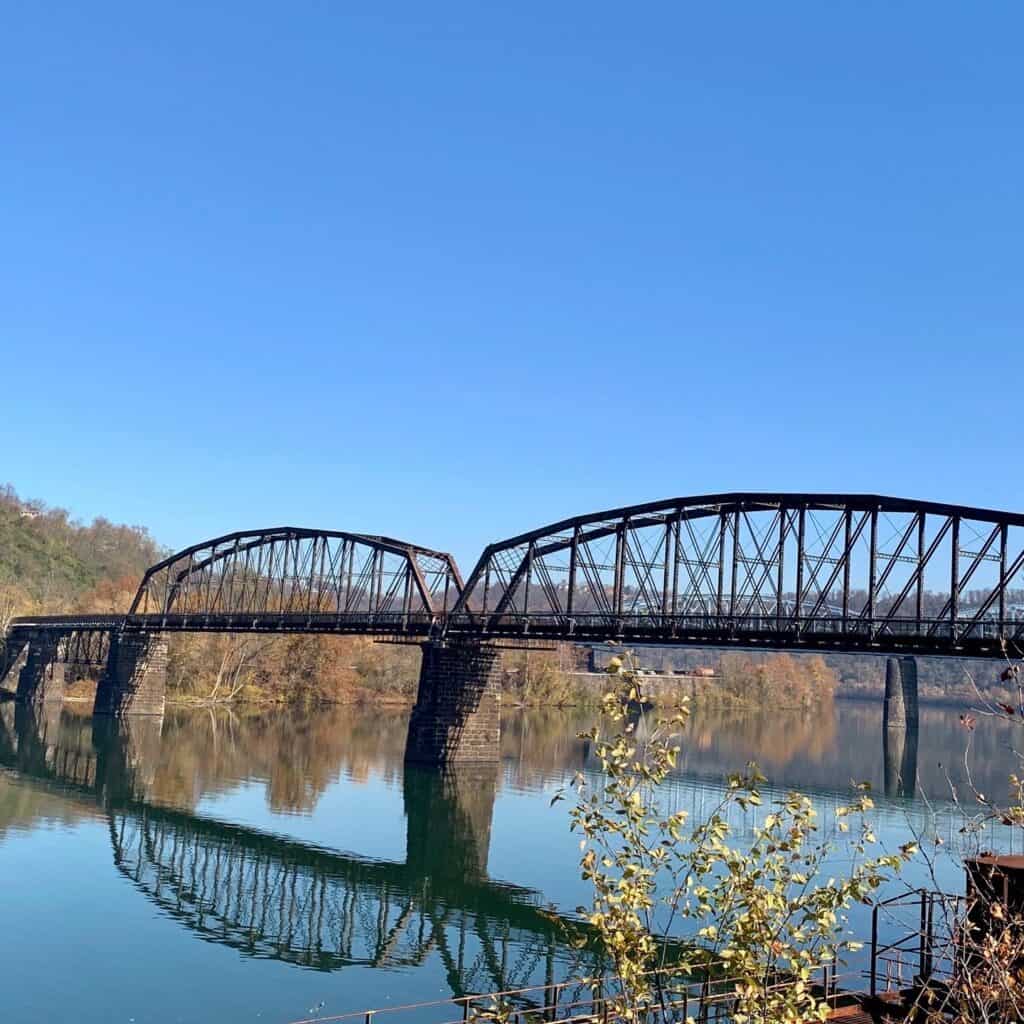
M 390 538 L 229 534 L 151 568 L 127 614 L 15 620 L 6 658 L 33 631 L 79 664 L 102 660 L 97 635 L 202 631 L 1002 657 L 1022 607 L 1022 514 L 732 493 L 564 519 L 492 544 L 465 582 L 451 555 Z

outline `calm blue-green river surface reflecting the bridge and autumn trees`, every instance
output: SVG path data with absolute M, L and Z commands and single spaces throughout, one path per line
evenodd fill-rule
M 501 766 L 447 776 L 403 769 L 406 721 L 340 708 L 118 726 L 0 705 L 3 1020 L 276 1024 L 582 971 L 566 942 L 588 901 L 578 840 L 549 804 L 593 770 L 575 738 L 590 714 L 510 711 Z M 710 809 L 752 759 L 824 812 L 868 780 L 883 843 L 939 835 L 938 881 L 958 891 L 949 778 L 966 738 L 957 712 L 925 710 L 914 772 L 912 751 L 887 768 L 870 705 L 700 712 L 665 803 Z M 985 792 L 1005 793 L 1014 739 L 988 721 L 973 734 Z M 906 881 L 930 884 L 924 867 Z

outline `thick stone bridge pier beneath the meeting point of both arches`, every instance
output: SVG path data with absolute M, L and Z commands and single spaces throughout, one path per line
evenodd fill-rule
M 423 644 L 406 761 L 443 765 L 501 760 L 501 652 L 472 641 Z

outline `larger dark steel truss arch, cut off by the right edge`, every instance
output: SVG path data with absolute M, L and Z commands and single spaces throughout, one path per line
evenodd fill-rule
M 1024 516 L 881 495 L 729 493 L 486 548 L 453 633 L 998 655 L 1024 645 Z

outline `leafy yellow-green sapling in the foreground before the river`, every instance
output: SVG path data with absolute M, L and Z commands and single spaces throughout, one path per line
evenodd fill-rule
M 868 856 L 876 838 L 865 815 L 872 804 L 862 791 L 835 812 L 847 835 L 847 872 L 824 878 L 833 847 L 818 838 L 813 804 L 790 793 L 763 808 L 764 778 L 753 766 L 728 779 L 706 820 L 664 811 L 657 791 L 678 763 L 687 713 L 656 720 L 641 740 L 634 725 L 643 706 L 639 680 L 617 658 L 609 673 L 601 723 L 586 734 L 600 775 L 577 776 L 570 817 L 593 889 L 590 907 L 580 912 L 613 962 L 603 989 L 613 1015 L 639 1021 L 651 1010 L 664 1014 L 673 998 L 668 971 L 717 977 L 737 1022 L 823 1019 L 827 1005 L 812 980 L 857 948 L 846 910 L 869 901 L 914 847 Z M 731 823 L 733 808 L 749 817 L 749 842 Z M 680 934 L 695 940 L 688 951 Z

